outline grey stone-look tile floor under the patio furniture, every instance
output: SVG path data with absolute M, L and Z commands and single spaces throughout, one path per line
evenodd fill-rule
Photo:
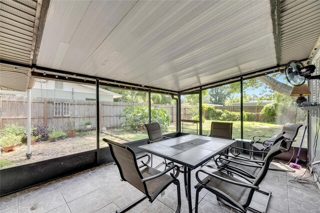
M 156 156 L 153 160 L 154 165 L 162 161 Z M 273 166 L 278 165 L 273 163 Z M 214 170 L 209 166 L 203 166 L 202 169 Z M 268 212 L 320 212 L 320 190 L 317 186 L 289 181 L 303 172 L 304 169 L 295 173 L 268 171 L 260 184 L 261 189 L 272 191 Z M 309 176 L 308 172 L 306 176 Z M 183 174 L 178 178 L 181 183 L 181 212 L 187 212 L 182 186 Z M 191 181 L 192 185 L 197 183 L 193 177 Z M 140 191 L 127 182 L 120 181 L 117 167 L 108 163 L 1 197 L 0 212 L 115 212 L 141 195 Z M 215 196 L 207 193 L 205 189 L 202 189 L 200 197 L 199 212 L 235 212 L 218 202 Z M 266 198 L 266 195 L 256 192 L 250 206 L 263 209 Z M 195 189 L 192 187 L 193 206 L 194 200 Z M 172 184 L 165 190 L 165 194 L 159 195 L 153 203 L 144 199 L 127 212 L 169 213 L 174 212 L 175 208 L 176 186 Z

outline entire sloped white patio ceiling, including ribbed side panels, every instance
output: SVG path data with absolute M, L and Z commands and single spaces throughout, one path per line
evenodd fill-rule
M 50 0 L 35 56 L 1 52 L 1 59 L 186 90 L 308 58 L 320 35 L 320 1 L 274 2 Z M 16 42 L 5 39 L 1 50 Z

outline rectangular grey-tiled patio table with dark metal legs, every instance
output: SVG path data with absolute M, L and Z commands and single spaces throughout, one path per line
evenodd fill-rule
M 236 140 L 188 134 L 139 146 L 140 149 L 183 165 L 185 195 L 189 212 L 191 202 L 191 170 L 230 147 Z

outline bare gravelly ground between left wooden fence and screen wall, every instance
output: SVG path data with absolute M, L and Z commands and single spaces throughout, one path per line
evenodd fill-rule
M 121 139 L 116 137 L 107 137 L 114 141 L 121 141 Z M 31 145 L 31 159 L 27 159 L 25 155 L 27 152 L 27 145 L 20 144 L 19 146 L 15 147 L 14 151 L 2 151 L 0 155 L 0 161 L 2 161 L 2 163 L 5 162 L 5 165 L 2 167 L 11 167 L 25 163 L 51 159 L 54 157 L 60 157 L 63 155 L 88 151 L 96 148 L 95 139 L 95 134 L 88 134 L 84 136 L 68 137 L 63 140 L 56 140 L 55 142 L 49 142 L 49 140 L 37 141 L 34 145 Z M 106 143 L 101 141 L 100 147 L 105 146 Z

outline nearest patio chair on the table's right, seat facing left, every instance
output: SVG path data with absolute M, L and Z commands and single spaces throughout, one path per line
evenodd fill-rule
M 220 169 L 212 173 L 202 169 L 198 170 L 195 173 L 195 178 L 197 179 L 198 184 L 194 186 L 196 188 L 195 212 L 196 213 L 198 212 L 199 192 L 201 191 L 202 188 L 205 188 L 211 193 L 215 194 L 218 201 L 240 212 L 246 212 L 247 209 L 260 212 L 252 207 L 249 207 L 249 204 L 252 200 L 253 193 L 254 191 L 258 191 L 263 194 L 267 194 L 268 198 L 264 208 L 264 212 L 266 212 L 270 198 L 271 198 L 271 192 L 270 191 L 265 192 L 260 190 L 259 184 L 265 177 L 272 158 L 275 155 L 281 153 L 280 145 L 281 145 L 281 142 L 277 142 L 272 146 L 270 151 L 265 156 L 264 164 L 259 170 L 259 172 L 257 173 L 254 180 L 251 180 L 240 173 L 237 173 L 235 171 L 230 171 L 228 169 Z M 247 180 L 248 183 L 241 181 L 238 178 L 231 176 L 225 172 L 232 172 L 237 176 L 240 176 L 243 179 Z M 199 173 L 204 173 L 207 176 L 203 179 L 200 179 Z

